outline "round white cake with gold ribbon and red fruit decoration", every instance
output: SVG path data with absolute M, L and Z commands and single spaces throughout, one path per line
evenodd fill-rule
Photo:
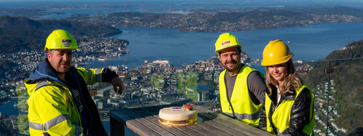
M 159 111 L 159 123 L 164 125 L 182 126 L 197 124 L 195 104 L 186 103 L 182 107 L 168 107 Z

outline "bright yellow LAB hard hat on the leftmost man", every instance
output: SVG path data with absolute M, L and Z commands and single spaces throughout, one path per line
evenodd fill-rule
M 78 49 L 77 41 L 65 30 L 54 30 L 46 39 L 44 51 L 49 49 Z

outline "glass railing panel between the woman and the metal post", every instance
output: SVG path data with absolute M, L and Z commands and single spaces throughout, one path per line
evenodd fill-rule
M 316 136 L 326 136 L 327 120 L 327 98 L 329 75 L 324 70 L 329 67 L 329 62 L 305 62 L 294 63 L 296 73 L 310 87 L 314 93 L 315 126 Z

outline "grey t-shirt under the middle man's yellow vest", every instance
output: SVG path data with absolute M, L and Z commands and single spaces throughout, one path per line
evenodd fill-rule
M 229 99 L 231 99 L 233 87 L 236 82 L 237 75 L 230 77 L 228 73 L 225 74 L 227 81 L 227 90 Z M 266 83 L 264 78 L 257 71 L 251 72 L 247 77 L 247 87 L 252 102 L 256 105 L 264 102 Z

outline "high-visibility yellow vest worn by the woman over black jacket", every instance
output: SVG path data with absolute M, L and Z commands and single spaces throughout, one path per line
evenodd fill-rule
M 289 128 L 291 108 L 293 107 L 295 99 L 297 98 L 297 96 L 300 94 L 300 92 L 304 88 L 307 88 L 307 90 L 309 90 L 311 102 L 310 102 L 309 124 L 305 125 L 302 132 L 307 135 L 312 135 L 314 125 L 315 125 L 314 94 L 313 94 L 313 92 L 311 92 L 310 88 L 307 87 L 305 84 L 302 84 L 297 89 L 294 99 L 280 101 L 279 104 L 277 105 L 276 110 L 273 112 L 272 115 L 270 115 L 270 110 L 271 110 L 270 108 L 273 108 L 273 106 L 271 106 L 272 101 L 269 98 L 269 96 L 267 95 L 267 93 L 265 93 L 265 97 L 266 97 L 265 98 L 265 109 L 266 109 L 266 117 L 267 117 L 266 118 L 267 119 L 266 127 L 267 127 L 268 132 L 274 132 L 273 126 L 276 128 L 277 133 L 284 132 L 285 129 Z M 271 118 L 272 121 L 269 118 Z M 271 124 L 271 123 L 273 123 L 273 124 Z M 277 133 L 276 133 L 276 135 L 277 135 Z

